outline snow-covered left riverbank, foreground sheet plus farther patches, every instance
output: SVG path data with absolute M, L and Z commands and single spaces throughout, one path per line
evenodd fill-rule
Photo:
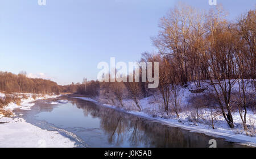
M 0 94 L 4 97 L 4 94 Z M 36 100 L 56 98 L 58 95 L 41 95 L 32 98 L 32 94 L 26 94 L 27 99 L 21 99 L 20 104 L 9 103 L 4 109 L 13 111 L 15 108 L 30 110 Z M 75 142 L 60 135 L 57 131 L 47 131 L 27 123 L 26 120 L 13 114 L 4 117 L 0 114 L 0 147 L 75 147 Z

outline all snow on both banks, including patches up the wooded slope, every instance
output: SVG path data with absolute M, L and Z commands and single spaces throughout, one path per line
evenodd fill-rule
M 202 87 L 207 86 L 207 83 L 201 83 Z M 193 84 L 189 85 L 189 88 L 181 88 L 180 91 L 180 103 L 181 106 L 187 106 L 188 99 L 193 93 L 189 91 L 189 89 L 193 89 Z M 236 89 L 237 84 L 234 85 Z M 248 87 L 249 91 L 253 91 L 251 87 Z M 17 106 L 14 103 L 10 103 L 6 110 L 14 110 L 14 108 L 21 108 L 25 110 L 29 110 L 34 103 L 35 99 L 32 99 L 32 94 L 27 94 L 29 96 L 28 99 L 22 99 L 21 106 Z M 4 98 L 5 94 L 0 93 L 0 98 Z M 45 97 L 39 97 L 37 99 L 47 99 L 47 98 L 56 98 L 57 96 L 49 96 L 46 95 Z M 85 101 L 90 102 L 99 102 L 100 100 L 94 100 L 92 98 L 86 97 L 73 97 L 77 99 L 82 99 Z M 156 100 L 155 100 L 156 99 Z M 67 100 L 59 100 L 56 102 L 52 102 L 51 104 L 57 103 L 68 103 Z M 147 98 L 143 98 L 139 101 L 139 105 L 142 108 L 142 111 L 138 111 L 137 106 L 135 105 L 134 101 L 131 99 L 123 100 L 123 107 L 115 106 L 114 104 L 110 105 L 109 103 L 102 103 L 102 106 L 110 107 L 117 109 L 119 111 L 123 111 L 129 114 L 141 116 L 142 118 L 147 118 L 150 120 L 155 120 L 157 122 L 169 125 L 171 127 L 181 127 L 193 132 L 205 133 L 206 135 L 214 136 L 214 137 L 221 137 L 228 141 L 238 142 L 246 145 L 251 145 L 256 147 L 256 136 L 251 137 L 247 136 L 245 132 L 242 131 L 241 128 L 241 119 L 238 112 L 233 114 L 234 124 L 236 125 L 236 129 L 229 128 L 228 124 L 226 124 L 222 115 L 216 117 L 216 123 L 214 124 L 215 129 L 210 127 L 210 125 L 206 122 L 209 120 L 210 110 L 207 108 L 201 109 L 201 118 L 204 120 L 200 120 L 199 122 L 192 122 L 189 120 L 190 114 L 193 113 L 190 110 L 183 110 L 179 112 L 179 119 L 176 118 L 175 115 L 166 115 L 163 113 L 162 110 L 162 100 L 158 97 L 157 94 L 155 96 L 150 96 Z M 0 147 L 39 147 L 40 144 L 46 143 L 46 147 L 73 147 L 74 143 L 72 143 L 69 139 L 61 136 L 58 132 L 49 132 L 29 123 L 24 122 L 24 119 L 10 119 L 10 118 L 3 118 L 3 115 L 0 114 L 0 122 L 3 120 L 9 120 L 7 122 L 0 124 Z M 247 124 L 251 124 L 255 127 L 256 124 L 256 115 L 255 112 L 247 110 Z M 17 131 L 19 129 L 19 131 Z M 9 133 L 10 132 L 10 133 Z M 18 133 L 17 133 L 18 132 Z M 23 134 L 23 135 L 20 135 Z M 7 136 L 8 135 L 8 136 Z M 22 137 L 19 137 L 22 136 Z M 20 138 L 20 139 L 19 139 Z M 52 140 L 51 140 L 52 139 Z M 28 142 L 27 142 L 28 140 Z M 64 144 L 61 144 L 64 143 Z M 59 145 L 60 144 L 60 145 Z M 43 144 L 44 145 L 44 144 Z

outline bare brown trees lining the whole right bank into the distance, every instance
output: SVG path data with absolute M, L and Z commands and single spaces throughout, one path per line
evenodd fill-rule
M 229 22 L 221 6 L 208 12 L 187 5 L 170 10 L 160 19 L 158 36 L 152 38 L 158 52 L 143 53 L 141 58 L 144 62 L 159 62 L 156 89 L 147 89 L 148 82 L 90 81 L 67 87 L 76 93 L 99 95 L 113 103 L 117 100 L 121 106 L 123 99 L 130 98 L 139 110 L 139 99 L 158 93 L 166 113 L 173 111 L 179 118 L 180 87 L 195 83 L 196 89 L 191 92 L 208 90 L 209 100 L 216 101 L 231 128 L 235 108 L 247 129 L 246 108 L 255 107 L 255 11 L 250 10 Z M 208 87 L 203 87 L 202 81 L 208 83 Z M 252 87 L 248 88 L 249 85 Z M 250 89 L 253 95 L 249 95 Z

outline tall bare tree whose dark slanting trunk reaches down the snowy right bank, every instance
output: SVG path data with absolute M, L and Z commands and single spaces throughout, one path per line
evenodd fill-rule
M 209 29 L 209 49 L 207 70 L 210 80 L 210 86 L 213 87 L 217 95 L 218 105 L 221 108 L 222 115 L 230 128 L 234 128 L 232 108 L 230 98 L 232 87 L 236 83 L 234 79 L 234 56 L 232 32 L 229 24 L 221 19 L 222 10 L 217 8 L 217 12 L 208 17 Z

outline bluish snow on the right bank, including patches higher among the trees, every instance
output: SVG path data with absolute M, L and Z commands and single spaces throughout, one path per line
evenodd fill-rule
M 234 85 L 234 88 L 237 87 L 238 84 Z M 207 83 L 202 82 L 202 86 L 207 86 Z M 193 87 L 193 84 L 190 85 L 190 88 Z M 190 89 L 189 88 L 189 89 Z M 248 87 L 249 91 L 250 87 Z M 188 88 L 181 88 L 180 91 L 180 102 L 182 106 L 187 106 L 188 99 L 191 97 L 191 95 L 194 95 L 191 93 Z M 243 132 L 243 128 L 239 127 L 241 126 L 241 118 L 238 112 L 235 112 L 233 114 L 233 120 L 234 124 L 236 125 L 235 129 L 229 128 L 228 124 L 226 123 L 225 119 L 222 115 L 218 115 L 216 117 L 216 123 L 214 123 L 213 129 L 210 124 L 207 123 L 207 121 L 210 119 L 210 110 L 207 108 L 201 109 L 202 118 L 205 119 L 205 121 L 200 120 L 199 122 L 191 122 L 189 120 L 189 114 L 191 114 L 190 110 L 183 110 L 182 112 L 179 112 L 179 118 L 176 118 L 175 115 L 164 115 L 162 108 L 160 107 L 162 105 L 161 99 L 155 100 L 154 96 L 150 96 L 147 98 L 143 98 L 139 101 L 139 105 L 142 108 L 142 111 L 138 111 L 137 106 L 135 105 L 135 102 L 131 99 L 125 99 L 123 100 L 123 105 L 125 108 L 121 106 L 114 106 L 112 104 L 102 103 L 100 100 L 93 100 L 91 98 L 81 98 L 81 97 L 75 97 L 79 99 L 83 99 L 85 101 L 92 101 L 101 103 L 102 106 L 110 107 L 117 109 L 119 111 L 127 112 L 129 114 L 141 116 L 143 118 L 147 118 L 150 120 L 157 120 L 160 123 L 170 125 L 171 127 L 181 127 L 184 129 L 187 129 L 189 131 L 193 132 L 200 132 L 205 133 L 206 135 L 214 136 L 214 137 L 221 137 L 228 141 L 238 142 L 246 145 L 251 145 L 253 147 L 256 147 L 256 136 L 247 136 L 245 135 L 245 132 Z M 193 112 L 192 112 L 193 113 Z M 251 125 L 255 127 L 256 125 L 256 115 L 254 112 L 247 110 L 247 124 L 252 123 Z M 237 130 L 238 129 L 238 130 Z M 241 131 L 241 132 L 240 132 Z

